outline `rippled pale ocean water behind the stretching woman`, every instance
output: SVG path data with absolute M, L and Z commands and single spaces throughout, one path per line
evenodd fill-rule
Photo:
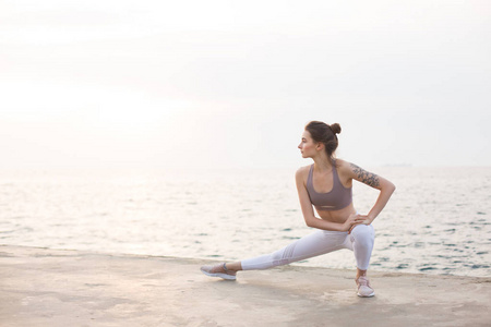
M 397 190 L 371 268 L 491 276 L 491 167 L 369 169 Z M 0 244 L 207 259 L 287 245 L 306 227 L 295 169 L 0 171 Z M 378 191 L 355 183 L 368 213 Z M 296 265 L 354 269 L 342 250 Z

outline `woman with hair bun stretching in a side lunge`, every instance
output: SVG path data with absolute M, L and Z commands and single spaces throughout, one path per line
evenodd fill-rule
M 385 207 L 395 190 L 393 183 L 360 167 L 334 158 L 340 133 L 338 123 L 328 125 L 312 121 L 306 125 L 298 146 L 303 158 L 314 164 L 300 168 L 296 173 L 297 191 L 303 218 L 318 231 L 297 240 L 274 253 L 241 262 L 203 266 L 207 276 L 236 279 L 239 270 L 267 269 L 287 265 L 340 249 L 354 251 L 357 262 L 355 278 L 359 296 L 373 296 L 374 290 L 367 278 L 367 269 L 374 242 L 371 225 Z M 380 195 L 367 215 L 355 209 L 351 197 L 352 180 L 380 190 Z M 315 217 L 312 206 L 320 218 Z

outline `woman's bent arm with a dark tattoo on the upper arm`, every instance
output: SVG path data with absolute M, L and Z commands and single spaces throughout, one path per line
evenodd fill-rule
M 357 180 L 361 183 L 372 186 L 373 189 L 380 190 L 380 194 L 379 197 L 376 198 L 375 204 L 373 205 L 369 214 L 366 216 L 367 219 L 369 220 L 369 223 L 371 223 L 385 207 L 388 199 L 391 198 L 392 193 L 394 193 L 396 187 L 388 180 L 379 177 L 372 172 L 369 172 L 355 164 L 349 164 L 348 171 L 350 178 L 352 178 L 354 180 Z

